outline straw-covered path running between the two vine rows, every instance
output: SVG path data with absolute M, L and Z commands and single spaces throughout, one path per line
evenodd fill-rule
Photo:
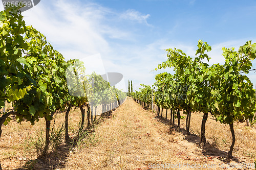
M 155 114 L 128 98 L 113 118 L 98 125 L 90 138 L 71 151 L 65 169 L 149 169 L 165 163 L 169 168 L 162 169 L 228 166 L 215 156 L 224 152 L 210 145 L 200 147 L 197 140 L 197 136 L 170 130 Z

